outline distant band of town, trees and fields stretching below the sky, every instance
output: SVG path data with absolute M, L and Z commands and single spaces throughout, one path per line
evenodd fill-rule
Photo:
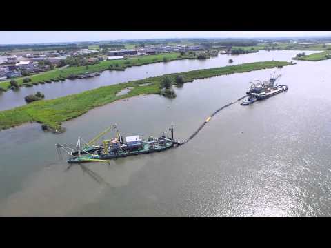
M 34 45 L 0 45 L 0 81 L 70 66 L 101 61 L 180 52 L 202 59 L 214 54 L 245 54 L 259 50 L 329 50 L 331 38 L 321 39 L 147 39 L 143 41 L 86 41 Z M 197 52 L 197 54 L 195 54 Z M 299 58 L 299 56 L 298 56 Z

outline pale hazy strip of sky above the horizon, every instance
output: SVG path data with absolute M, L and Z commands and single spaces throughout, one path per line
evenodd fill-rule
M 331 31 L 0 31 L 0 44 L 152 38 L 331 36 Z

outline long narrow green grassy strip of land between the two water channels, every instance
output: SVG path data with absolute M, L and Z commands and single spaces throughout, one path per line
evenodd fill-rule
M 250 72 L 252 70 L 261 70 L 285 65 L 291 65 L 291 63 L 283 61 L 266 61 L 231 65 L 221 68 L 193 70 L 190 72 L 174 73 L 137 81 L 129 81 L 127 83 L 119 83 L 117 85 L 99 87 L 79 94 L 63 96 L 58 99 L 35 101 L 28 105 L 16 107 L 12 110 L 1 111 L 0 130 L 21 125 L 29 121 L 43 123 L 54 130 L 59 130 L 63 121 L 80 116 L 94 107 L 140 94 L 160 94 L 160 85 L 165 76 L 168 76 L 171 79 L 172 84 L 174 84 L 176 76 L 182 76 L 184 82 L 192 82 L 194 79 L 203 79 L 239 72 Z M 146 83 L 148 83 L 148 85 L 143 85 Z M 116 96 L 118 92 L 126 87 L 132 87 L 132 90 L 126 95 Z

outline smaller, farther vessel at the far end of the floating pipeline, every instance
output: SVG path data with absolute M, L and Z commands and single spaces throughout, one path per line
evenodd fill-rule
M 275 74 L 275 72 L 274 72 Z M 264 81 L 259 83 L 252 83 L 250 90 L 246 92 L 248 94 L 248 99 L 243 101 L 241 105 L 248 105 L 250 103 L 254 103 L 257 100 L 267 99 L 270 96 L 274 96 L 275 94 L 284 92 L 288 90 L 287 85 L 277 85 L 276 81 L 279 79 L 281 75 L 271 76 L 269 81 Z

